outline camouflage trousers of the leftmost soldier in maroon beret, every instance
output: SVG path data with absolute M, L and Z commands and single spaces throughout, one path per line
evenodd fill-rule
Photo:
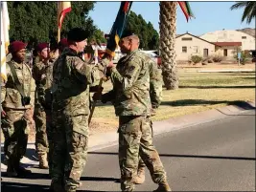
M 6 116 L 1 119 L 1 128 L 5 137 L 4 152 L 7 160 L 18 161 L 26 153 L 29 126 L 28 110 L 5 108 Z

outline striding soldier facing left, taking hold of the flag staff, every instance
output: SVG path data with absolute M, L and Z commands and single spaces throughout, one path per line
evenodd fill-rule
M 102 101 L 111 100 L 119 117 L 121 189 L 134 190 L 140 156 L 151 172 L 152 181 L 159 185 L 156 191 L 171 191 L 152 144 L 149 60 L 138 51 L 137 35 L 126 34 L 119 46 L 127 55 L 119 60 L 116 68 L 110 69 L 113 90 L 103 95 Z

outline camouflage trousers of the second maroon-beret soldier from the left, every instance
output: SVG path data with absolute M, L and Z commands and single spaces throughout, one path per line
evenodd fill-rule
M 39 105 L 35 105 L 35 149 L 37 154 L 48 153 L 48 139 L 46 133 L 46 113 Z

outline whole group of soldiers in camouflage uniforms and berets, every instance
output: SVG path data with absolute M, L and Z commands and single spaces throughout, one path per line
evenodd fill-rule
M 155 191 L 171 191 L 166 172 L 152 144 L 151 116 L 161 102 L 161 70 L 151 58 L 138 51 L 139 38 L 123 34 L 119 47 L 126 56 L 115 66 L 111 56 L 96 65 L 81 58 L 88 36 L 80 28 L 68 32 L 58 43 L 58 54 L 49 56 L 49 45 L 39 43 L 31 72 L 24 63 L 26 44 L 14 41 L 12 60 L 7 63 L 7 82 L 2 84 L 1 125 L 5 136 L 7 174 L 22 177 L 31 174 L 20 166 L 29 135 L 28 111 L 31 80 L 35 79 L 35 146 L 39 167 L 49 168 L 50 189 L 75 192 L 87 160 L 90 92 L 94 100 L 112 102 L 119 117 L 119 165 L 122 191 L 133 191 L 145 181 L 145 167 L 158 184 Z M 106 73 L 105 73 L 106 69 Z M 113 89 L 102 94 L 95 86 L 107 76 Z

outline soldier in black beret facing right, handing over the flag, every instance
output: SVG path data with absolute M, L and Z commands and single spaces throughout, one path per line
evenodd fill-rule
M 86 32 L 68 32 L 69 47 L 58 57 L 53 70 L 54 154 L 51 189 L 75 192 L 87 159 L 89 85 L 94 71 L 104 71 L 103 61 L 94 68 L 79 56 L 86 45 Z M 104 63 L 104 64 L 103 64 Z

